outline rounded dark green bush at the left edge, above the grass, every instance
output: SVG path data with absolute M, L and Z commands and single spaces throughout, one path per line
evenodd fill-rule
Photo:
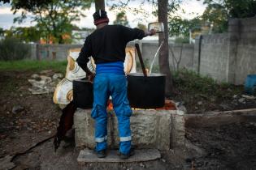
M 29 46 L 19 39 L 10 37 L 0 41 L 0 60 L 11 61 L 28 57 Z

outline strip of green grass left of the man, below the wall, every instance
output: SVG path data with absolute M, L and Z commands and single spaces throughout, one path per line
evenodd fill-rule
M 36 61 L 36 60 L 18 60 L 18 61 L 0 61 L 0 71 L 40 71 L 54 70 L 65 73 L 67 61 Z

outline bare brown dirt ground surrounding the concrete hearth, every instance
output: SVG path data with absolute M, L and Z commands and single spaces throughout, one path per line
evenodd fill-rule
M 164 151 L 162 159 L 144 163 L 77 164 L 80 148 L 72 144 L 62 142 L 54 153 L 50 137 L 55 133 L 61 110 L 52 102 L 52 93 L 32 95 L 28 91 L 32 74 L 0 73 L 0 159 L 15 155 L 13 169 L 256 169 L 254 123 L 186 127 L 186 138 L 203 155 L 180 148 Z M 18 111 L 14 112 L 14 108 Z M 46 138 L 50 139 L 41 142 Z M 35 146 L 38 142 L 41 143 Z M 30 147 L 33 148 L 28 150 Z

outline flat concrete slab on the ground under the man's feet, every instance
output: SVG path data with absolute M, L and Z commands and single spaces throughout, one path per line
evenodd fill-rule
M 118 150 L 110 150 L 107 152 L 106 158 L 98 158 L 93 150 L 81 150 L 78 155 L 77 162 L 84 163 L 119 163 L 119 162 L 145 162 L 149 160 L 160 159 L 161 154 L 157 149 L 141 149 L 135 150 L 135 154 L 129 159 L 119 159 Z

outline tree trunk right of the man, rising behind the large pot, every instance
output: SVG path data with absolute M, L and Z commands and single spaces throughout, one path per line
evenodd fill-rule
M 167 97 L 170 97 L 173 91 L 173 85 L 172 85 L 171 70 L 169 66 L 169 46 L 168 46 L 169 36 L 168 36 L 168 25 L 167 25 L 167 6 L 168 6 L 168 0 L 158 0 L 158 22 L 162 22 L 164 25 L 164 32 L 158 34 L 159 45 L 164 40 L 163 46 L 159 51 L 158 63 L 159 63 L 160 73 L 167 75 L 165 95 Z

